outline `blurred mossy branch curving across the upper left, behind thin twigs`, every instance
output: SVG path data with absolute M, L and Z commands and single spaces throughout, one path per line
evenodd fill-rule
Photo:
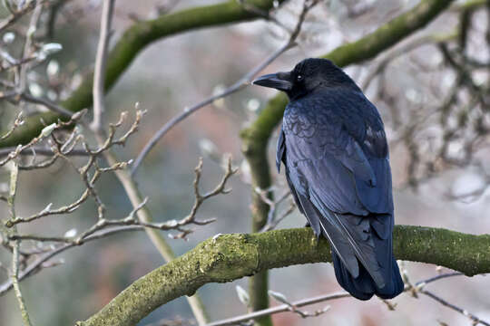
M 279 1 L 282 3 L 284 0 Z M 247 4 L 255 8 L 268 11 L 273 5 L 272 0 L 249 0 Z M 108 91 L 130 66 L 132 60 L 148 44 L 162 38 L 181 34 L 204 27 L 220 26 L 222 24 L 240 23 L 262 17 L 253 11 L 247 10 L 236 0 L 230 0 L 218 5 L 205 5 L 185 9 L 174 14 L 165 14 L 161 17 L 133 24 L 121 39 L 115 44 L 107 59 L 105 74 L 105 90 Z M 73 94 L 61 103 L 65 109 L 76 112 L 92 105 L 93 73 L 90 73 Z M 0 141 L 0 148 L 25 144 L 38 136 L 44 123 L 49 125 L 62 117 L 53 112 L 36 114 L 25 119 L 25 124 L 8 139 Z M 66 119 L 66 118 L 63 118 Z

